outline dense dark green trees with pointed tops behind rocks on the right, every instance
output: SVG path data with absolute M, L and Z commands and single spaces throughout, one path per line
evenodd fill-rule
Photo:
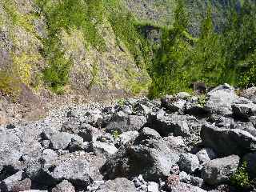
M 230 9 L 222 32 L 214 30 L 212 15 L 209 6 L 201 34 L 192 38 L 187 30 L 185 6 L 179 1 L 174 26 L 163 30 L 162 45 L 150 68 L 150 97 L 189 90 L 194 81 L 206 82 L 208 86 L 224 82 L 242 87 L 256 84 L 255 3 L 244 1 L 240 12 Z

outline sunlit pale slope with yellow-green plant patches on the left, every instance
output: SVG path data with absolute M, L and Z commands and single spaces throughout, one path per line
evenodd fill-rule
M 0 2 L 0 89 L 18 94 L 138 94 L 147 89 L 140 37 L 118 1 Z M 95 94 L 94 94 L 95 95 Z

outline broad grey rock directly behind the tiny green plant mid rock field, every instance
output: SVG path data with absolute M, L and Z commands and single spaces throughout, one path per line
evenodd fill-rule
M 146 117 L 126 115 L 122 111 L 119 111 L 110 119 L 109 124 L 106 126 L 106 131 L 112 133 L 117 130 L 119 133 L 123 133 L 126 131 L 139 130 L 145 124 Z

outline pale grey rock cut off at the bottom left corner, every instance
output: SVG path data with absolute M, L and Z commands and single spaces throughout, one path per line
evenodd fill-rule
M 22 180 L 22 171 L 18 171 L 16 174 L 11 175 L 10 177 L 4 179 L 0 183 L 0 190 L 3 192 L 11 191 L 15 183 Z

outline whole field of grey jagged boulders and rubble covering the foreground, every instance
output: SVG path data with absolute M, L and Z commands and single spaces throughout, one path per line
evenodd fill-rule
M 230 182 L 243 162 L 244 189 Z M 255 178 L 256 88 L 63 106 L 0 127 L 0 191 L 256 191 Z

